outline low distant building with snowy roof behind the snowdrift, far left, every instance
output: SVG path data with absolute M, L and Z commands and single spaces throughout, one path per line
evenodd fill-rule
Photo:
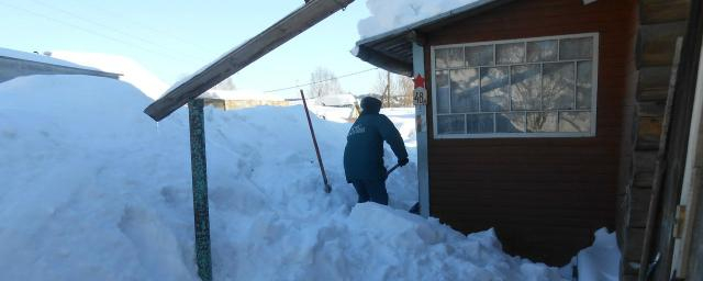
M 0 82 L 30 75 L 88 75 L 119 79 L 119 74 L 71 64 L 49 56 L 0 48 Z

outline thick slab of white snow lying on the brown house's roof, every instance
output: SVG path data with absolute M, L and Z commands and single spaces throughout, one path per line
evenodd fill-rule
M 371 16 L 358 23 L 361 38 L 412 24 L 477 0 L 367 0 Z

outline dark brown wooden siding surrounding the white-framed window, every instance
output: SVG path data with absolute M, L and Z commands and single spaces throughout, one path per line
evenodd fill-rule
M 434 139 L 429 104 L 433 216 L 465 233 L 494 227 L 509 252 L 554 266 L 595 229 L 614 228 L 633 9 L 631 0 L 518 0 L 427 34 L 434 46 L 600 33 L 595 137 Z

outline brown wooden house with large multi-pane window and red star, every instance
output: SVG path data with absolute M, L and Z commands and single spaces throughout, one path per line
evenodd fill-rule
M 703 280 L 703 192 L 682 181 L 701 177 L 687 157 L 701 14 L 700 0 L 479 0 L 365 38 L 356 56 L 425 79 L 423 215 L 495 227 L 506 251 L 555 266 L 605 226 L 623 280 Z

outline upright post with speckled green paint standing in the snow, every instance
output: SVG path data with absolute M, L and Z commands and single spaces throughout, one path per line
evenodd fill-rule
M 196 261 L 198 276 L 212 280 L 210 258 L 210 214 L 208 211 L 208 166 L 205 160 L 204 101 L 194 99 L 188 103 L 190 124 L 190 166 L 193 183 L 193 214 L 196 218 Z

